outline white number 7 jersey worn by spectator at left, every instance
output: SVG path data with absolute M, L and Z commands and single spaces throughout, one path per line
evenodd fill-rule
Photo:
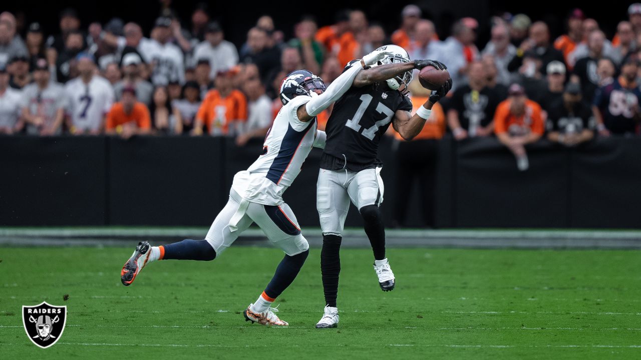
M 93 76 L 88 84 L 81 78 L 70 80 L 65 85 L 67 114 L 76 129 L 99 130 L 104 114 L 112 108 L 114 93 L 109 81 Z

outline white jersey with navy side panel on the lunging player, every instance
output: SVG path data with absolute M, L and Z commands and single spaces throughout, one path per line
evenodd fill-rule
M 263 205 L 283 203 L 283 192 L 301 172 L 314 144 L 316 119 L 302 122 L 296 114 L 311 99 L 299 95 L 278 112 L 265 138 L 263 154 L 234 177 L 231 188 L 243 199 Z

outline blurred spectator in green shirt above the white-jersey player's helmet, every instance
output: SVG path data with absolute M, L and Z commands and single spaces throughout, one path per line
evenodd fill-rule
M 290 47 L 296 47 L 301 53 L 304 68 L 314 74 L 320 71 L 320 64 L 324 57 L 324 51 L 320 42 L 314 40 L 318 26 L 311 17 L 303 17 L 303 20 L 294 26 L 294 36 L 289 41 Z

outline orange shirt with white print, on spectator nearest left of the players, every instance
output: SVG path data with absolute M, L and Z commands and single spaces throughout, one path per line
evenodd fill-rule
M 203 120 L 211 135 L 229 135 L 229 126 L 247 120 L 247 99 L 242 92 L 231 90 L 222 97 L 218 90 L 210 90 L 196 114 Z

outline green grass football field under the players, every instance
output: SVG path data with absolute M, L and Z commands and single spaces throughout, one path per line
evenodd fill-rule
M 240 313 L 269 282 L 279 250 L 160 261 L 125 287 L 132 249 L 0 247 L 0 358 L 641 358 L 639 251 L 390 249 L 397 287 L 383 293 L 370 250 L 344 249 L 339 327 L 315 329 L 318 249 L 276 300 L 287 328 Z M 68 309 L 62 338 L 46 350 L 21 319 L 22 305 L 42 300 Z

